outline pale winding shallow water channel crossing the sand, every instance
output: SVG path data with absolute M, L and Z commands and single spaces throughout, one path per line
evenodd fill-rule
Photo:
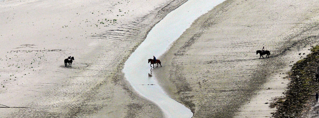
M 165 53 L 170 44 L 179 38 L 195 19 L 223 1 L 225 0 L 189 0 L 182 4 L 152 28 L 145 41 L 125 62 L 123 72 L 127 80 L 139 94 L 157 104 L 166 117 L 187 118 L 192 117 L 193 113 L 168 96 L 159 86 L 159 78 L 149 76 L 151 67 L 150 63 L 147 63 L 148 59 L 153 59 L 153 55 L 159 57 Z M 156 68 L 157 64 L 154 65 Z

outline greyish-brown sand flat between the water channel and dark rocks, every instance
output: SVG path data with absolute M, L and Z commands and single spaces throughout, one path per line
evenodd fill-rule
M 194 117 L 271 116 L 275 109 L 264 103 L 282 95 L 289 65 L 318 43 L 318 5 L 227 0 L 198 18 L 153 72 Z M 271 56 L 258 59 L 263 46 Z

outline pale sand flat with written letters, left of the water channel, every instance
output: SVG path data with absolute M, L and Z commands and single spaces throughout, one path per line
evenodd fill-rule
M 184 2 L 0 2 L 0 116 L 162 117 L 122 68 L 148 31 Z M 68 56 L 71 68 L 64 67 Z

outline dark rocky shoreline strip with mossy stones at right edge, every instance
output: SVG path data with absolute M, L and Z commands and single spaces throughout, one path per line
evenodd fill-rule
M 319 83 L 315 81 L 315 74 L 318 72 L 319 46 L 311 49 L 312 53 L 306 58 L 296 62 L 289 72 L 288 91 L 285 97 L 277 98 L 276 102 L 271 103 L 270 107 L 278 110 L 273 116 L 283 117 L 303 117 L 308 115 L 308 111 L 315 102 L 315 88 Z

